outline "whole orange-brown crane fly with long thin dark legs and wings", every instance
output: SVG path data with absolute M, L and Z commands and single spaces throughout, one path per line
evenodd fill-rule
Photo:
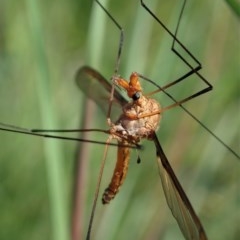
M 108 17 L 112 20 L 112 22 L 115 23 L 117 28 L 121 32 L 121 37 L 122 35 L 122 28 L 121 26 L 116 22 L 116 20 L 110 15 L 109 12 L 101 5 L 99 1 L 95 1 L 96 3 L 99 4 L 99 6 L 102 8 L 102 10 L 108 15 Z M 183 7 L 182 11 L 184 9 L 185 2 L 183 2 Z M 184 47 L 184 45 L 178 40 L 177 38 L 177 30 L 178 27 L 176 28 L 175 33 L 170 32 L 165 25 L 162 25 L 161 21 L 157 16 L 148 8 L 147 5 L 143 1 L 141 1 L 141 5 L 143 9 L 146 10 L 146 12 L 153 17 L 161 26 L 165 28 L 165 30 L 172 36 L 173 39 L 173 46 L 174 44 L 179 44 L 187 53 L 191 55 L 191 53 Z M 182 12 L 181 11 L 181 12 Z M 181 14 L 179 19 L 181 19 Z M 183 188 L 181 187 L 177 177 L 175 176 L 174 171 L 172 170 L 172 167 L 170 166 L 168 159 L 166 155 L 164 154 L 162 150 L 162 146 L 157 138 L 156 135 L 156 130 L 159 125 L 159 121 L 162 115 L 162 112 L 173 108 L 175 106 L 180 106 L 181 108 L 184 109 L 184 111 L 187 111 L 182 104 L 186 101 L 189 101 L 190 99 L 199 96 L 200 94 L 203 94 L 209 90 L 211 90 L 211 85 L 205 81 L 205 79 L 199 74 L 199 70 L 201 69 L 200 63 L 197 67 L 192 67 L 189 66 L 188 62 L 185 61 L 185 59 L 181 58 L 181 55 L 176 53 L 185 63 L 186 65 L 189 66 L 190 70 L 188 73 L 186 73 L 184 76 L 180 77 L 179 79 L 175 80 L 174 82 L 164 86 L 160 87 L 157 82 L 153 82 L 150 79 L 144 77 L 143 75 L 139 73 L 133 73 L 130 77 L 130 81 L 125 80 L 121 77 L 119 77 L 118 72 L 119 72 L 119 62 L 121 58 L 121 51 L 122 51 L 122 44 L 123 40 L 120 38 L 120 44 L 119 44 L 119 54 L 117 57 L 116 61 L 116 67 L 115 67 L 115 72 L 112 77 L 113 80 L 113 85 L 110 84 L 107 80 L 105 80 L 104 77 L 101 76 L 101 74 L 98 73 L 98 71 L 90 68 L 90 67 L 82 67 L 77 73 L 77 84 L 82 89 L 82 91 L 90 98 L 92 98 L 101 108 L 104 109 L 107 119 L 108 119 L 108 124 L 109 124 L 109 130 L 101 130 L 99 129 L 100 132 L 104 132 L 109 134 L 109 138 L 107 140 L 107 144 L 105 147 L 105 153 L 104 153 L 104 158 L 103 160 L 105 161 L 106 159 L 106 152 L 107 148 L 109 145 L 115 145 L 118 147 L 117 150 L 117 163 L 116 167 L 112 176 L 112 180 L 109 184 L 109 186 L 106 188 L 106 190 L 103 193 L 102 196 L 102 202 L 104 204 L 109 203 L 113 198 L 115 198 L 116 194 L 119 192 L 120 186 L 123 184 L 124 178 L 127 173 L 127 166 L 128 166 L 128 161 L 129 161 L 129 154 L 130 154 L 130 149 L 131 148 L 140 148 L 139 142 L 141 139 L 148 139 L 153 141 L 155 144 L 156 148 L 156 155 L 157 155 L 157 161 L 158 161 L 158 166 L 159 166 L 159 173 L 160 173 L 160 178 L 162 181 L 162 186 L 164 189 L 165 197 L 167 200 L 167 203 L 169 205 L 169 208 L 172 211 L 173 216 L 176 218 L 178 225 L 186 239 L 207 239 L 207 236 L 205 234 L 205 231 L 203 229 L 203 226 L 196 215 L 190 201 L 188 200 Z M 173 50 L 176 52 L 176 50 L 173 47 Z M 197 75 L 200 79 L 203 80 L 207 84 L 207 87 L 196 93 L 191 95 L 190 97 L 187 97 L 182 100 L 175 100 L 174 98 L 171 97 L 171 99 L 174 101 L 172 105 L 169 107 L 160 107 L 159 103 L 154 100 L 154 97 L 152 98 L 153 94 L 157 92 L 165 92 L 166 89 L 170 88 L 171 86 L 177 84 L 178 82 L 181 82 L 182 80 L 186 79 L 190 75 Z M 152 84 L 154 84 L 157 87 L 157 90 L 152 92 L 151 94 L 145 94 L 145 92 L 142 92 L 141 84 L 139 82 L 138 78 L 141 78 L 143 80 L 149 81 Z M 90 87 L 89 84 L 97 84 L 100 87 L 97 87 L 99 90 L 100 88 L 103 89 L 103 98 L 106 100 L 106 97 L 109 98 L 110 95 L 110 104 L 107 108 L 106 105 L 103 105 L 100 103 L 98 97 L 99 92 L 95 92 L 94 88 Z M 128 97 L 131 100 L 131 102 L 127 101 L 124 97 L 121 96 L 121 94 L 115 89 L 115 86 L 117 85 L 120 88 L 123 88 L 127 93 Z M 102 91 L 102 90 L 100 90 Z M 107 93 L 107 94 L 106 94 Z M 167 94 L 167 93 L 166 93 Z M 117 103 L 120 105 L 123 109 L 122 114 L 119 116 L 116 122 L 112 122 L 111 117 L 112 116 L 112 108 L 113 105 Z M 187 111 L 189 114 L 189 112 Z M 193 115 L 190 114 L 195 120 L 197 120 Z M 197 120 L 199 122 L 199 120 Z M 201 124 L 201 122 L 200 122 Z M 203 125 L 203 127 L 205 127 Z M 86 141 L 90 143 L 102 143 L 99 141 L 95 140 L 87 140 L 87 139 L 80 139 L 80 138 L 67 138 L 67 137 L 59 137 L 59 136 L 54 136 L 52 134 L 45 134 L 42 133 L 44 131 L 42 130 L 29 130 L 29 129 L 23 129 L 23 128 L 18 128 L 15 126 L 7 125 L 7 124 L 1 124 L 0 125 L 1 130 L 6 130 L 6 131 L 13 131 L 17 133 L 24 133 L 24 134 L 29 134 L 29 135 L 36 135 L 36 136 L 41 136 L 41 137 L 49 137 L 49 138 L 60 138 L 60 139 L 66 139 L 66 140 L 73 140 L 73 141 Z M 206 129 L 206 127 L 205 127 Z M 96 130 L 96 129 L 95 129 Z M 48 132 L 49 130 L 46 130 Z M 68 131 L 68 130 L 66 130 Z M 81 131 L 81 130 L 78 130 Z M 82 131 L 88 131 L 87 129 L 82 130 Z M 94 131 L 94 129 L 89 129 L 89 131 Z M 208 129 L 207 129 L 208 131 Z M 51 131 L 50 131 L 51 132 Z M 52 131 L 54 132 L 54 131 Z M 60 132 L 56 130 L 56 132 Z M 64 130 L 62 131 L 64 132 Z M 211 131 L 210 133 L 216 137 Z M 117 140 L 117 144 L 112 143 L 111 141 L 115 139 Z M 220 142 L 227 147 L 230 151 L 232 150 L 228 146 L 226 146 L 221 139 L 216 137 L 217 140 L 220 140 Z M 105 144 L 105 143 L 104 143 Z M 234 151 L 232 151 L 233 154 Z M 237 156 L 235 154 L 237 158 Z M 102 167 L 104 164 L 102 165 Z M 100 174 L 101 177 L 101 174 Z M 96 190 L 96 193 L 98 195 L 99 191 L 99 184 Z M 93 208 L 92 208 L 92 215 L 90 218 L 90 223 L 89 223 L 89 228 L 88 228 L 88 235 L 87 239 L 90 239 L 90 234 L 92 230 L 92 226 L 94 226 L 94 221 L 93 221 L 93 216 L 96 208 L 96 200 L 97 197 L 95 197 Z

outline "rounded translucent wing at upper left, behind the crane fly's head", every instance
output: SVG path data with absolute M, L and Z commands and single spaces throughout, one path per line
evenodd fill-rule
M 81 67 L 77 71 L 76 83 L 82 92 L 107 114 L 112 85 L 100 73 L 88 66 Z M 127 102 L 128 101 L 115 89 L 111 115 L 119 116 L 120 114 L 117 109 L 121 109 L 119 106 L 123 106 Z

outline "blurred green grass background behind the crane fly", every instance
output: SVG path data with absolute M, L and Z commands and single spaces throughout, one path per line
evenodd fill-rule
M 147 1 L 174 30 L 178 1 Z M 151 3 L 150 3 L 151 2 Z M 125 29 L 120 74 L 137 71 L 159 85 L 187 68 L 170 51 L 171 38 L 134 1 L 102 1 Z M 225 1 L 188 1 L 179 39 L 202 62 L 214 91 L 185 106 L 239 154 L 239 19 Z M 26 128 L 78 128 L 86 99 L 74 76 L 82 65 L 107 79 L 114 71 L 119 31 L 92 1 L 0 2 L 0 121 Z M 144 90 L 154 88 L 143 83 Z M 178 99 L 201 89 L 192 77 L 170 92 Z M 159 97 L 163 106 L 168 100 Z M 88 107 L 89 108 L 89 107 Z M 107 128 L 91 105 L 89 127 Z M 91 119 L 91 121 L 89 120 Z M 73 134 L 71 134 L 72 136 Z M 159 139 L 209 239 L 240 235 L 239 159 L 175 108 L 163 116 Z M 105 141 L 107 136 L 88 138 Z M 0 239 L 70 239 L 75 153 L 78 143 L 0 132 Z M 104 147 L 84 144 L 81 238 L 87 231 Z M 151 142 L 137 154 L 125 184 L 109 206 L 100 199 L 92 239 L 183 239 L 167 207 Z M 100 193 L 116 148 L 109 150 Z

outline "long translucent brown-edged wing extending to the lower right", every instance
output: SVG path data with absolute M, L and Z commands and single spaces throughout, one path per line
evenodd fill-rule
M 154 134 L 162 186 L 169 208 L 187 240 L 206 240 L 207 236 L 193 207 L 171 168 L 160 142 Z

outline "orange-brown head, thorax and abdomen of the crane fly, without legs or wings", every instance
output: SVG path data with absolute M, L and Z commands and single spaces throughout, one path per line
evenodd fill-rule
M 115 83 L 127 91 L 132 102 L 123 106 L 122 115 L 115 124 L 111 125 L 111 136 L 121 145 L 136 144 L 143 138 L 151 140 L 160 121 L 159 103 L 142 95 L 137 73 L 132 73 L 129 83 L 122 78 L 115 79 Z M 128 169 L 129 154 L 129 148 L 118 147 L 117 163 L 112 180 L 102 198 L 104 204 L 115 197 L 122 185 Z

